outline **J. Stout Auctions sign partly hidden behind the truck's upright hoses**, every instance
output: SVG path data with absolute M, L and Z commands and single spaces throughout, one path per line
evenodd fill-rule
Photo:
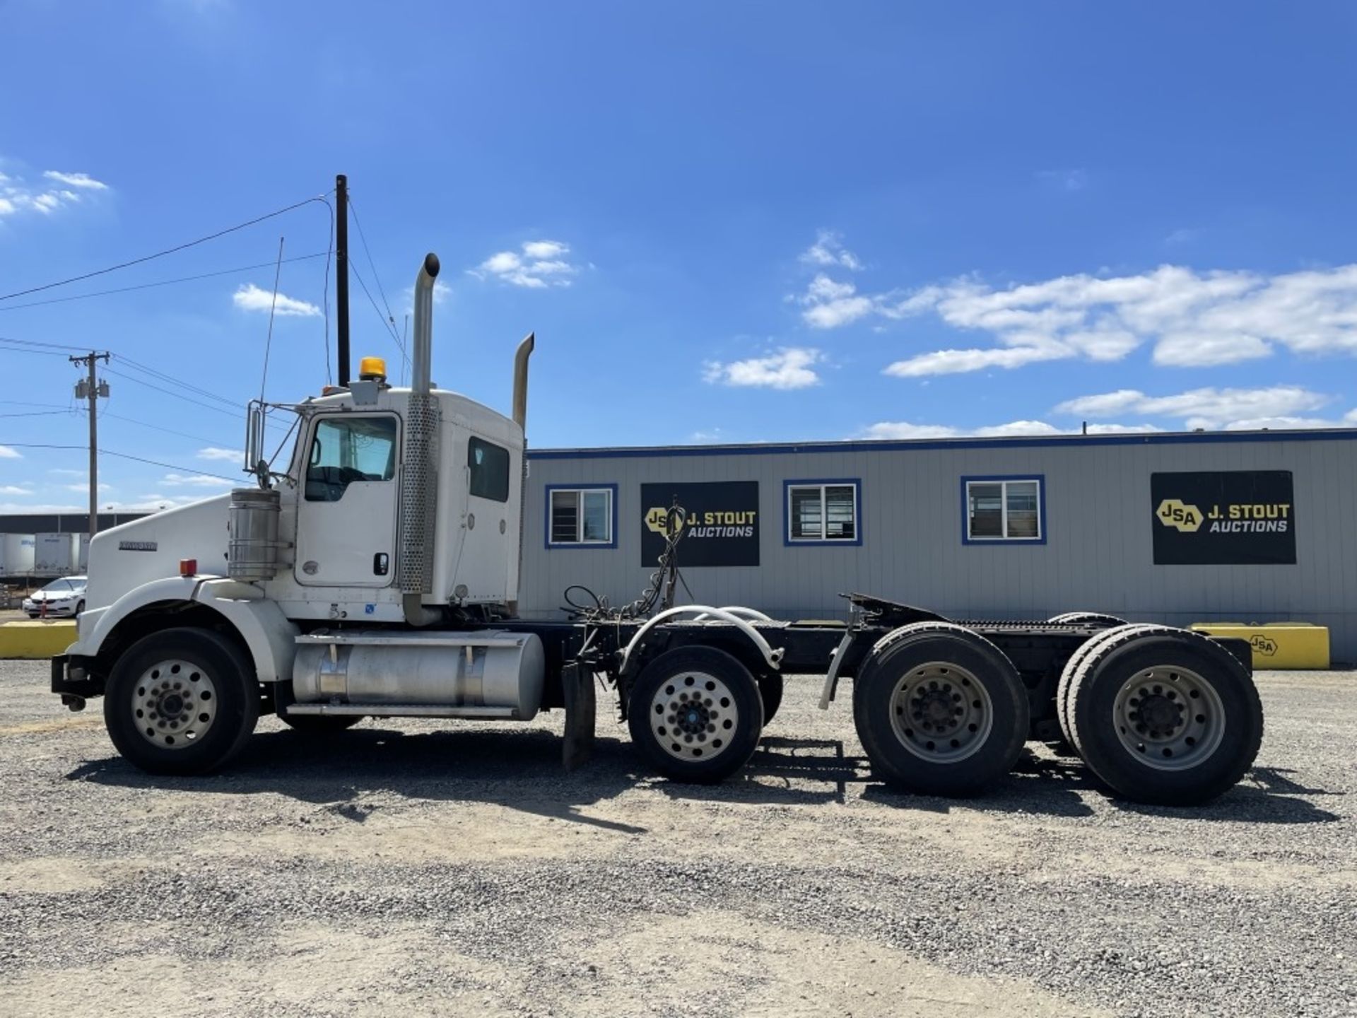
M 664 552 L 674 498 L 685 512 L 680 567 L 759 565 L 757 480 L 642 485 L 641 565 L 654 566 Z

